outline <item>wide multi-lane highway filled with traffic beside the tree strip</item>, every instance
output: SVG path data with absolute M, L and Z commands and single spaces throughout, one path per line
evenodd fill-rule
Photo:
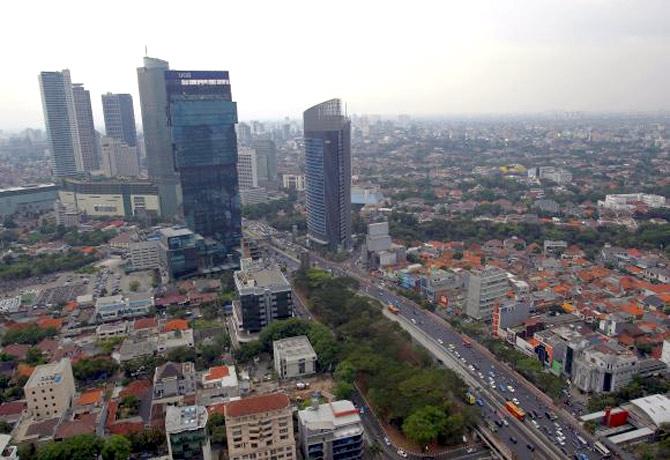
M 291 254 L 275 249 L 275 256 L 287 265 L 296 268 Z M 462 336 L 436 315 L 423 310 L 414 302 L 376 284 L 352 265 L 343 266 L 335 262 L 312 256 L 315 265 L 331 270 L 336 275 L 347 275 L 361 282 L 361 290 L 383 304 L 393 304 L 398 309 L 398 319 L 410 333 L 418 333 L 429 341 L 437 359 L 456 370 L 477 394 L 477 405 L 483 419 L 493 422 L 500 441 L 518 458 L 600 458 L 593 449 L 592 438 L 574 420 L 568 420 L 547 397 L 538 394 L 530 383 L 512 369 L 496 361 L 490 354 L 476 346 L 466 346 Z M 304 314 L 306 309 L 300 309 Z M 415 335 L 415 334 L 412 334 Z M 516 400 L 527 414 L 519 422 L 503 409 L 506 400 Z

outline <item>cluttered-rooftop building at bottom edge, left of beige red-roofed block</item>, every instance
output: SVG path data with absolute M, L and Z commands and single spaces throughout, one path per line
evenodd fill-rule
M 207 434 L 207 408 L 203 406 L 167 406 L 165 435 L 171 460 L 212 458 Z

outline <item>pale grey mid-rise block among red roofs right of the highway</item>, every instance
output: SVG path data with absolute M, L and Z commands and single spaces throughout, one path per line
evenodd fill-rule
M 507 273 L 498 267 L 486 266 L 473 270 L 468 276 L 466 314 L 475 319 L 489 321 L 493 308 L 506 298 L 509 283 Z

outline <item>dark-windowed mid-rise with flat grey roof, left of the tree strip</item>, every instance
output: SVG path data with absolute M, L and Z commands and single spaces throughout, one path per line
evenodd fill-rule
M 259 332 L 278 319 L 293 316 L 293 293 L 288 280 L 277 267 L 264 267 L 262 261 L 242 259 L 233 274 L 239 302 L 233 317 L 241 331 Z

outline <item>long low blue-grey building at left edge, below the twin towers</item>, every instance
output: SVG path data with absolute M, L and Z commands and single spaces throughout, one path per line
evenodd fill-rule
M 53 209 L 58 198 L 56 184 L 0 188 L 0 216 L 39 214 Z

